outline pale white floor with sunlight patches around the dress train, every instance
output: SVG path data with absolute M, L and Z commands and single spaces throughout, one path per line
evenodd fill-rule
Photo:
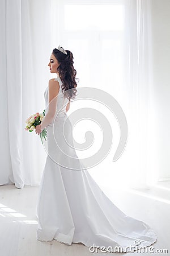
M 18 189 L 15 185 L 0 186 L 0 255 L 2 256 L 85 256 L 85 255 L 170 255 L 170 184 L 158 183 L 149 190 L 122 190 L 102 188 L 106 195 L 121 210 L 131 217 L 145 221 L 158 236 L 152 245 L 152 252 L 144 253 L 91 253 L 81 243 L 67 246 L 53 240 L 36 240 L 36 203 L 38 187 L 25 186 Z M 167 253 L 156 250 L 167 249 Z

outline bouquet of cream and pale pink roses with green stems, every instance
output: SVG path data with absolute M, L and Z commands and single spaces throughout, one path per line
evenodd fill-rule
M 25 121 L 27 123 L 27 126 L 25 127 L 25 131 L 29 131 L 31 133 L 37 125 L 40 125 L 44 116 L 45 116 L 45 109 L 42 113 L 37 112 L 36 114 L 30 115 L 30 117 L 28 117 L 27 120 Z M 47 137 L 47 131 L 46 131 L 46 128 L 44 128 L 40 133 L 41 142 L 42 142 L 42 138 L 44 138 L 46 141 L 46 137 Z

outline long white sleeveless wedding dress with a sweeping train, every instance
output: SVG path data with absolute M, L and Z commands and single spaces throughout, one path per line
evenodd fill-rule
M 59 93 L 57 111 L 67 104 L 67 98 L 61 93 L 62 81 L 59 77 Z M 48 110 L 48 87 L 44 92 L 45 105 Z M 65 107 L 66 108 L 66 107 Z M 70 170 L 65 163 L 81 168 L 83 165 L 76 155 L 75 149 L 65 143 L 63 137 L 63 122 L 69 120 L 65 109 L 57 115 L 54 123 L 50 123 L 48 131 L 48 156 L 42 174 L 39 197 L 37 200 L 37 240 L 57 240 L 66 245 L 82 242 L 90 247 L 121 246 L 128 251 L 127 246 L 150 246 L 156 241 L 156 234 L 145 222 L 127 216 L 116 207 L 101 191 L 99 185 L 84 170 Z M 54 125 L 54 127 L 53 127 Z M 67 122 L 66 133 L 73 138 L 71 122 Z M 65 150 L 65 158 L 56 146 Z M 74 163 L 74 158 L 77 158 Z M 57 164 L 57 160 L 63 166 Z M 70 161 L 70 162 L 69 162 Z

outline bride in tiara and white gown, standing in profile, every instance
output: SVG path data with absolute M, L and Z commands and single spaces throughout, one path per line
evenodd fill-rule
M 125 252 L 137 246 L 136 241 L 142 247 L 150 246 L 156 241 L 154 230 L 118 209 L 70 146 L 73 127 L 66 113 L 77 92 L 73 64 L 73 53 L 61 46 L 53 49 L 48 66 L 57 77 L 49 80 L 44 92 L 45 118 L 36 126 L 36 134 L 45 127 L 48 133 L 48 155 L 37 200 L 37 240 L 118 246 Z

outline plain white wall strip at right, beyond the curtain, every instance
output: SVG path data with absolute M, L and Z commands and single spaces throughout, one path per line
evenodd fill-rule
M 159 179 L 170 179 L 170 1 L 152 0 L 154 106 Z M 157 161 L 157 159 L 155 159 Z

